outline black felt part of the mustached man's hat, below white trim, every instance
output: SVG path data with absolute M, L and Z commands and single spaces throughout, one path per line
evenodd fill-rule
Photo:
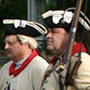
M 12 34 L 22 34 L 22 35 L 27 35 L 27 36 L 32 36 L 32 37 L 38 37 L 41 35 L 36 29 L 33 27 L 29 27 L 26 25 L 26 28 L 18 27 L 14 28 L 13 24 L 5 24 L 5 35 L 12 35 Z

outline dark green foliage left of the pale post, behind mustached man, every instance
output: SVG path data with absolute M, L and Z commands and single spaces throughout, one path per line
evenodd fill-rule
M 18 18 L 27 18 L 27 0 L 2 0 L 0 3 L 0 50 L 4 49 L 3 19 Z

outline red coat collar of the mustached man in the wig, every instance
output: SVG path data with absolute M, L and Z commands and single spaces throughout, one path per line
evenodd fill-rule
M 17 76 L 31 61 L 34 57 L 38 55 L 38 52 L 33 49 L 30 56 L 23 62 L 20 68 L 15 70 L 15 63 L 13 62 L 12 65 L 9 68 L 9 75 L 13 74 L 14 77 Z

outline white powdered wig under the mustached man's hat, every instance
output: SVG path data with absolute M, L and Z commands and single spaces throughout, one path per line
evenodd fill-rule
M 20 35 L 20 34 L 17 34 L 16 36 L 18 37 L 18 39 L 20 40 L 20 42 L 22 44 L 25 44 L 25 43 L 28 42 L 30 48 L 32 48 L 32 49 L 37 48 L 38 43 L 37 43 L 37 41 L 33 37 L 29 37 L 29 36 L 25 36 L 25 35 Z

